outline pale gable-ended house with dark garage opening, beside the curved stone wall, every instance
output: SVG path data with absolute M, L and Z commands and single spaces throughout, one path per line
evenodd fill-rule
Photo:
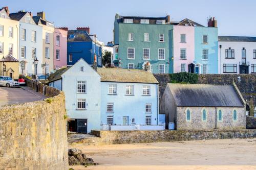
M 58 69 L 49 77 L 49 85 L 65 92 L 69 131 L 100 130 L 100 76 L 86 61 Z

